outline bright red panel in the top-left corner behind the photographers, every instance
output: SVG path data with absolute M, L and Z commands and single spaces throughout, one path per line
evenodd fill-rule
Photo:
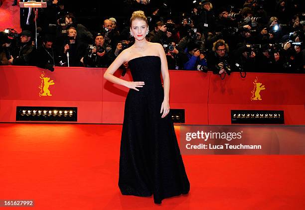
M 3 4 L 0 6 L 0 31 L 6 28 L 13 28 L 20 33 L 19 5 L 12 6 L 13 0 L 2 0 L 2 2 Z

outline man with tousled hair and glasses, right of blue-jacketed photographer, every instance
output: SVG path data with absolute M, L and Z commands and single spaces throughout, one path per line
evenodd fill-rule
M 229 58 L 229 46 L 223 39 L 219 39 L 213 43 L 212 52 L 207 56 L 208 69 L 214 74 L 231 74 L 231 62 Z

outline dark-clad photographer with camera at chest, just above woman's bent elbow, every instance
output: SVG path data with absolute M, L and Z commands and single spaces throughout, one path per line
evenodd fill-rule
M 104 36 L 98 33 L 95 37 L 94 45 L 89 45 L 83 62 L 86 67 L 104 68 L 108 67 L 111 62 L 110 53 L 106 52 L 104 45 Z

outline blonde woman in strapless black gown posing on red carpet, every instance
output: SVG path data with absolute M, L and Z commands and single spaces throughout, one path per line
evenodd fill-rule
M 119 188 L 123 195 L 149 197 L 154 203 L 187 194 L 187 179 L 169 113 L 169 75 L 163 47 L 148 42 L 147 18 L 143 11 L 131 17 L 135 44 L 110 65 L 104 78 L 130 88 L 125 102 L 121 138 Z M 115 77 L 125 62 L 134 81 Z M 163 86 L 160 74 L 163 78 Z

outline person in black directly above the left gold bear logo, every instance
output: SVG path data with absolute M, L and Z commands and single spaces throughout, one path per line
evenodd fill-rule
M 41 46 L 39 46 L 37 53 L 37 66 L 43 69 L 54 71 L 54 66 L 57 64 L 57 56 L 53 49 L 53 38 L 46 34 L 43 37 Z

